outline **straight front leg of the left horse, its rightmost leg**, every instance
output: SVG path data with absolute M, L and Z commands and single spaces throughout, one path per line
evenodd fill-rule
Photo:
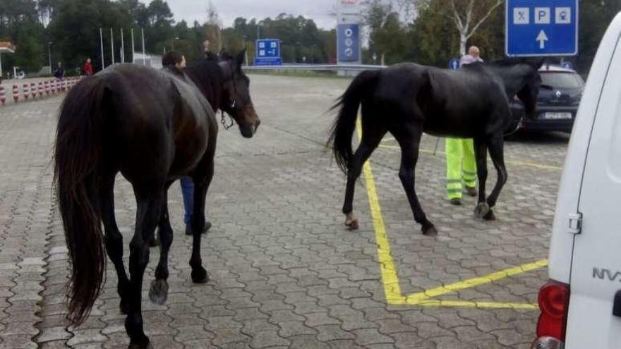
M 205 228 L 205 200 L 207 190 L 211 184 L 214 173 L 213 156 L 207 155 L 206 166 L 203 171 L 194 173 L 194 210 L 192 214 L 192 256 L 190 257 L 190 267 L 192 267 L 192 281 L 194 283 L 206 283 L 209 281 L 207 270 L 203 267 L 203 259 L 200 257 L 200 239 Z

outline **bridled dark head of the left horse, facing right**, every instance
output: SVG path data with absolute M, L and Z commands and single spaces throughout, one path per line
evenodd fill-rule
M 218 64 L 224 73 L 222 110 L 239 125 L 241 135 L 250 138 L 257 131 L 260 120 L 250 96 L 250 79 L 241 69 L 245 56 L 246 49 L 237 56 L 222 52 Z

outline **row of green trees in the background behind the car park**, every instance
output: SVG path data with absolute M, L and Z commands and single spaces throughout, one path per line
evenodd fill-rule
M 451 57 L 463 54 L 467 45 L 481 48 L 484 59 L 505 54 L 505 0 L 366 0 L 363 2 L 368 47 L 363 63 L 386 64 L 415 61 L 447 66 Z M 588 72 L 610 20 L 621 10 L 621 0 L 580 0 L 579 55 L 569 58 L 581 73 Z M 406 14 L 411 16 L 406 16 Z M 121 61 L 121 29 L 125 61 L 131 60 L 130 30 L 136 51 L 141 51 L 140 30 L 145 30 L 145 49 L 162 54 L 174 49 L 188 61 L 210 49 L 248 50 L 255 56 L 255 40 L 280 39 L 287 63 L 327 63 L 335 60 L 336 32 L 318 28 L 310 18 L 282 13 L 276 18 L 236 18 L 221 28 L 216 8 L 205 11 L 204 23 L 175 22 L 164 0 L 143 4 L 138 0 L 0 0 L 0 41 L 16 45 L 15 54 L 3 55 L 4 68 L 19 66 L 40 71 L 62 61 L 66 68 L 92 59 L 101 68 L 100 27 L 103 29 L 104 65 L 111 63 L 110 28 L 114 32 L 114 61 Z M 336 23 L 336 20 L 335 20 Z

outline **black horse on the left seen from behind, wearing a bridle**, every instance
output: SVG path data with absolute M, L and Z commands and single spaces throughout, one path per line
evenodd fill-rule
M 150 347 L 143 331 L 140 290 L 150 240 L 159 225 L 160 258 L 150 298 L 159 303 L 167 298 L 172 243 L 167 191 L 181 176 L 191 176 L 195 185 L 191 277 L 195 283 L 207 282 L 200 233 L 214 173 L 214 109 L 234 118 L 244 137 L 252 137 L 259 125 L 249 80 L 241 70 L 243 56 L 203 59 L 186 69 L 191 80 L 152 68 L 114 66 L 82 80 L 67 94 L 56 130 L 54 180 L 72 262 L 68 318 L 74 324 L 88 317 L 100 293 L 107 252 L 119 277 L 121 312 L 128 314 L 129 347 Z M 138 204 L 130 277 L 114 218 L 114 180 L 119 172 L 131 183 Z

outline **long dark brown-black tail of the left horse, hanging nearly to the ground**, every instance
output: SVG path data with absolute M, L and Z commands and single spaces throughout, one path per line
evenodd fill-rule
M 106 270 L 100 209 L 104 84 L 86 78 L 68 92 L 59 115 L 54 184 L 71 257 L 69 314 L 81 324 L 100 294 Z

